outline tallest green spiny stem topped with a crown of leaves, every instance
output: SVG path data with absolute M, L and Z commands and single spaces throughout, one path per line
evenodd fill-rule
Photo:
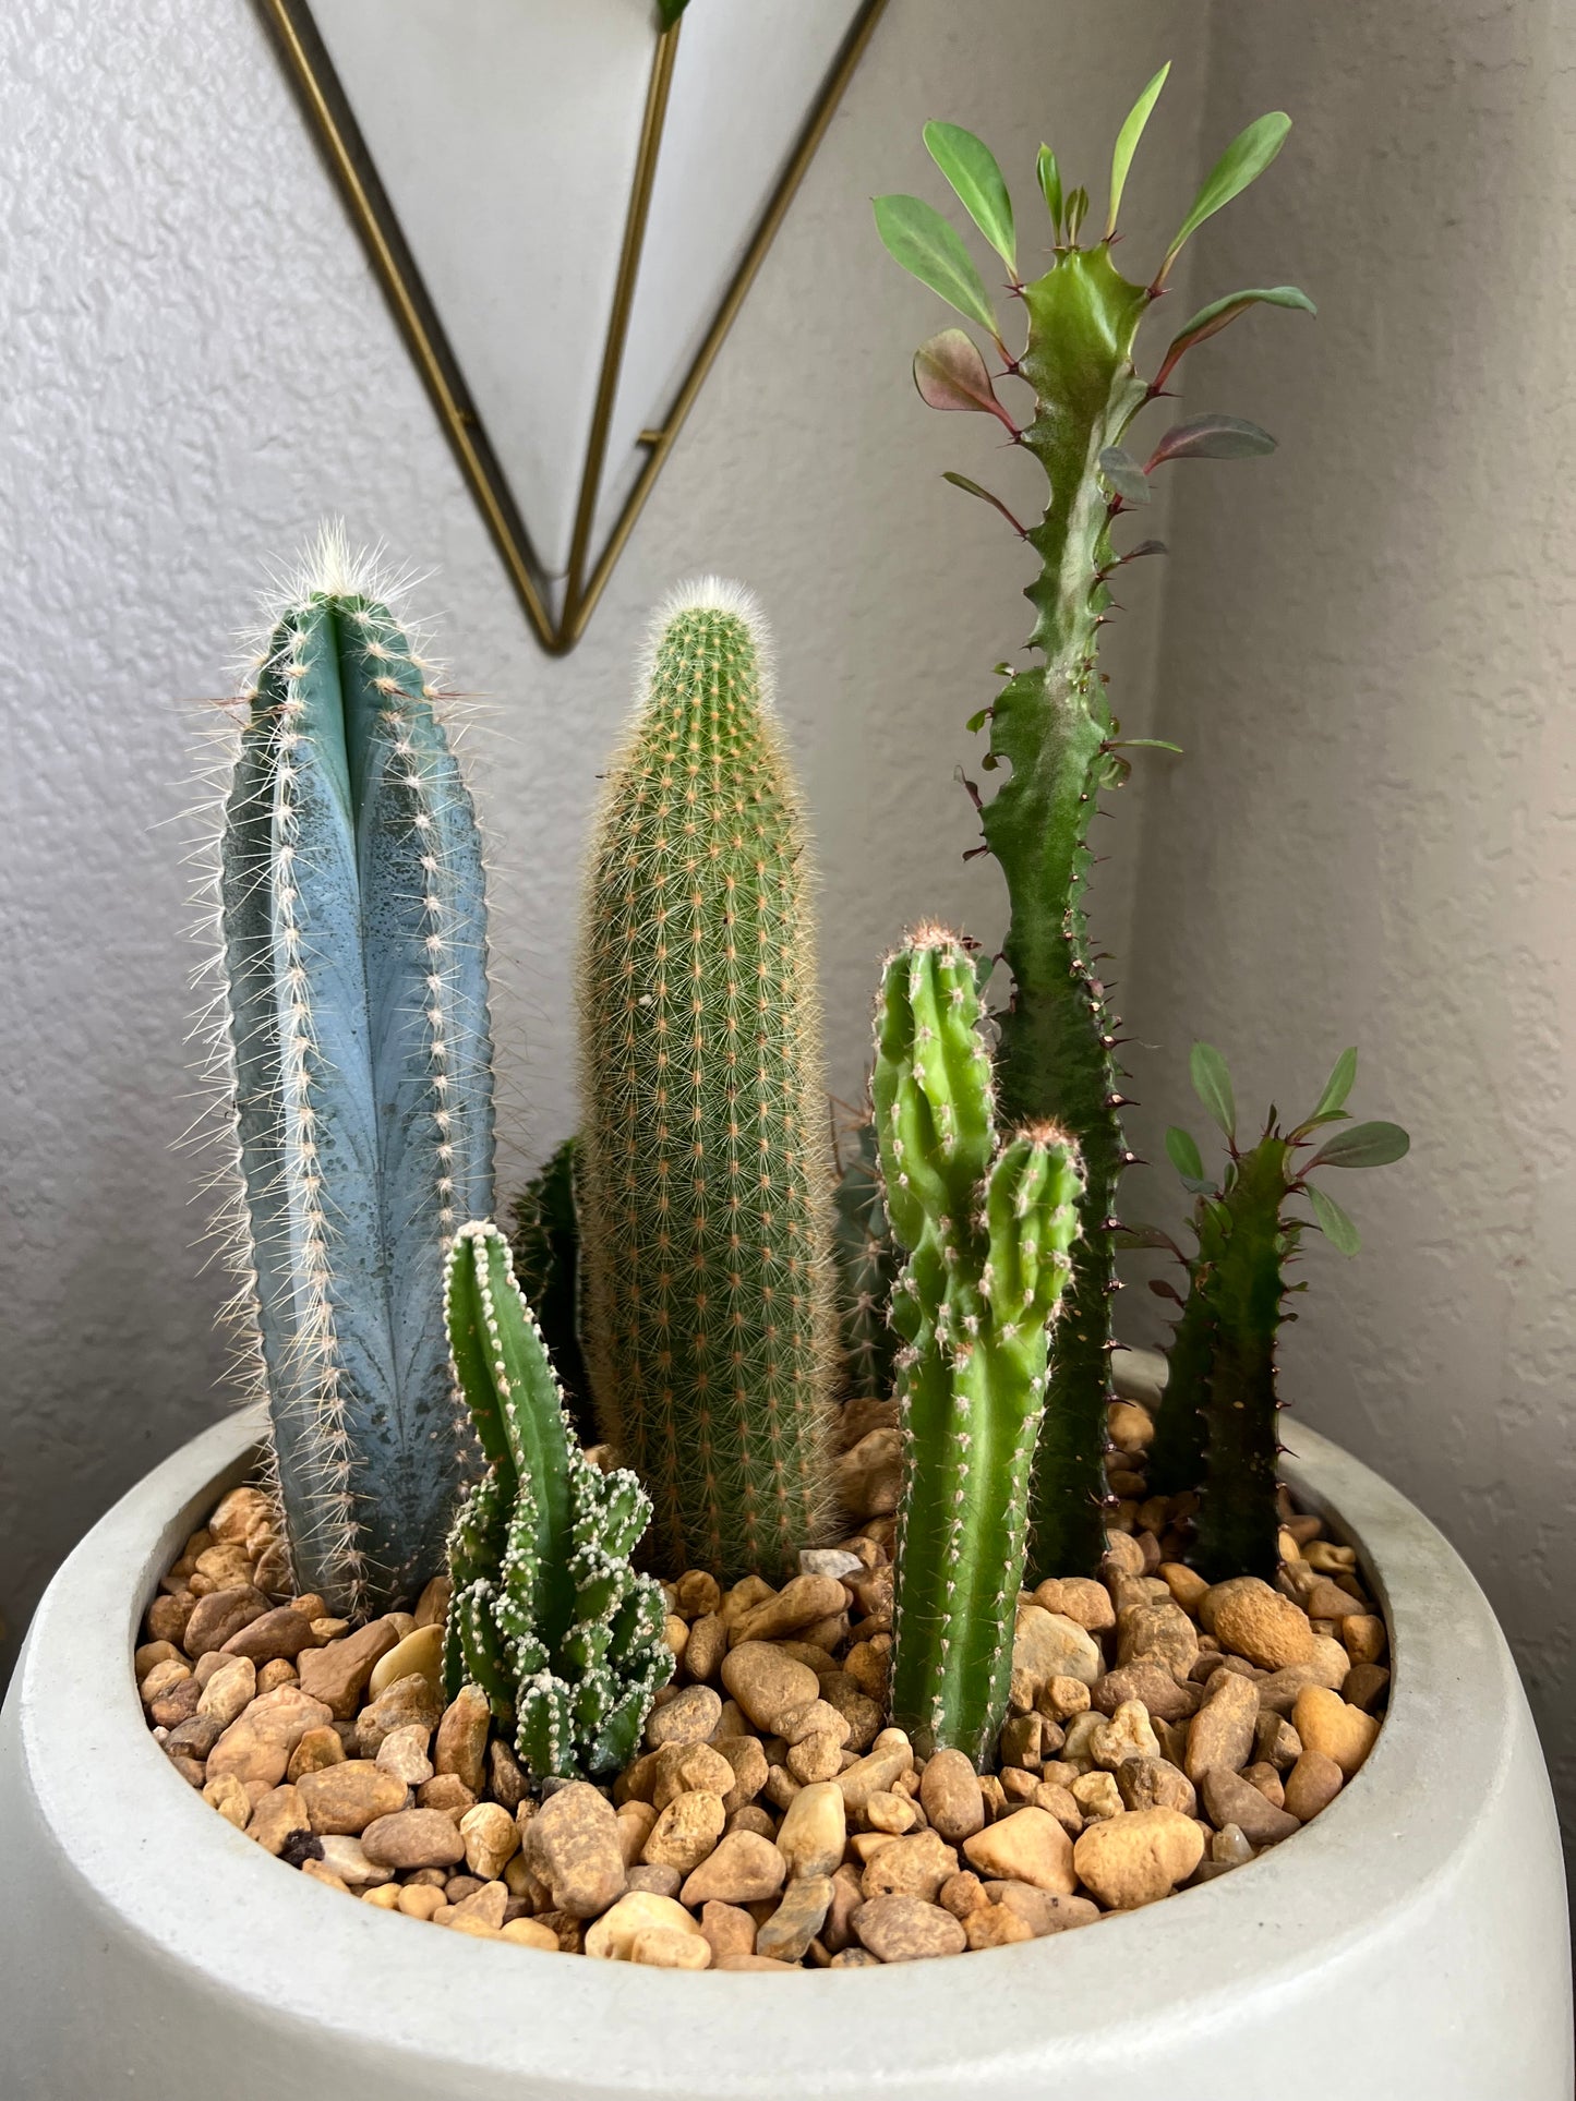
M 1044 515 L 1021 525 L 977 483 L 948 475 L 996 504 L 1040 557 L 1040 574 L 1025 590 L 1034 607 L 1028 647 L 1036 662 L 1011 672 L 994 704 L 971 723 L 975 729 L 990 723 L 983 763 L 1007 775 L 981 807 L 986 847 L 1000 861 L 1009 893 L 1002 954 L 1013 998 L 998 1017 L 996 1061 L 1002 1114 L 1055 1120 L 1074 1135 L 1084 1162 L 1082 1235 L 1036 1462 L 1030 1567 L 1040 1576 L 1093 1567 L 1103 1546 L 1114 1206 L 1120 1170 L 1133 1158 L 1122 1141 L 1122 1074 L 1112 1057 L 1120 1025 L 1091 939 L 1084 891 L 1101 794 L 1126 775 L 1124 742 L 1097 668 L 1099 630 L 1114 605 L 1110 580 L 1124 561 L 1158 553 L 1160 544 L 1118 555 L 1112 525 L 1149 500 L 1149 477 L 1168 460 L 1246 456 L 1273 445 L 1263 431 L 1229 416 L 1175 427 L 1145 462 L 1124 441 L 1135 416 L 1166 393 L 1183 353 L 1246 307 L 1311 311 L 1292 286 L 1236 292 L 1194 315 L 1152 380 L 1139 376 L 1133 361 L 1139 324 L 1164 292 L 1179 250 L 1269 166 L 1290 128 L 1280 113 L 1250 124 L 1204 181 L 1156 275 L 1133 284 L 1118 271 L 1112 244 L 1133 153 L 1166 71 L 1156 74 L 1120 130 L 1105 231 L 1093 246 L 1078 244 L 1088 193 L 1063 191 L 1055 153 L 1040 149 L 1040 191 L 1055 246 L 1051 267 L 1030 282 L 1017 269 L 1013 204 L 990 149 L 956 124 L 925 128 L 933 160 L 1007 265 L 1011 294 L 1023 305 L 1025 340 L 1017 353 L 1007 349 L 992 296 L 952 225 L 918 197 L 876 200 L 876 225 L 895 261 L 983 330 L 1002 361 L 1000 376 L 1028 384 L 1034 403 L 1019 427 L 998 399 L 975 340 L 960 328 L 943 330 L 918 351 L 920 397 L 931 408 L 996 416 L 1011 441 L 1034 454 L 1049 483 Z

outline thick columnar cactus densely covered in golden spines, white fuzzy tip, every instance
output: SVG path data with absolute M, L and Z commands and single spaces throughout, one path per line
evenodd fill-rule
M 805 828 L 733 586 L 658 618 L 582 956 L 597 1412 L 664 1567 L 782 1576 L 830 1509 L 830 1147 Z

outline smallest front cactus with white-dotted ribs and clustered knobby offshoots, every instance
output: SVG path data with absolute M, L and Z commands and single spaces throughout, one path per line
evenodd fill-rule
M 628 1563 L 651 1506 L 580 1450 L 496 1225 L 456 1237 L 443 1313 L 488 1458 L 450 1538 L 448 1696 L 479 1685 L 534 1780 L 618 1771 L 672 1677 L 662 1590 Z

